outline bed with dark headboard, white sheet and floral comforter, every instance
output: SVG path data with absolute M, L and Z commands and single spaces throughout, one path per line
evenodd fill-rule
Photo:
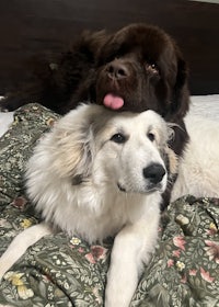
M 79 31 L 149 21 L 170 32 L 188 59 L 191 112 L 219 120 L 218 4 L 73 2 L 0 3 L 0 29 L 7 29 L 0 42 L 2 95 L 28 78 L 24 60 L 38 52 L 60 52 L 64 42 Z M 15 235 L 41 219 L 25 196 L 23 172 L 35 144 L 59 116 L 34 102 L 0 114 L 0 254 Z M 186 195 L 172 203 L 162 215 L 155 253 L 143 270 L 131 306 L 219 306 L 218 229 L 219 198 Z M 89 246 L 62 232 L 42 239 L 4 275 L 0 306 L 103 306 L 112 243 L 110 238 Z

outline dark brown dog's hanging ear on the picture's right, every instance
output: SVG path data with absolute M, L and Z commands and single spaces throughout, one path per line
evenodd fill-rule
M 171 121 L 181 121 L 189 107 L 188 68 L 178 49 L 176 49 L 177 72 L 173 89 L 172 105 L 169 113 Z M 169 118 L 166 118 L 169 120 Z

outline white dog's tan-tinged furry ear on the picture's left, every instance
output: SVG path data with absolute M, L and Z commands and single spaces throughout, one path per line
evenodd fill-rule
M 61 178 L 72 178 L 72 184 L 85 180 L 92 170 L 95 152 L 93 122 L 100 106 L 82 105 L 64 116 L 54 128 L 56 152 L 53 169 Z

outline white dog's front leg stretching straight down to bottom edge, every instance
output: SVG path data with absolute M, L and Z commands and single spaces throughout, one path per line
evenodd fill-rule
M 158 218 L 157 218 L 158 219 Z M 147 231 L 148 224 L 126 226 L 115 238 L 111 255 L 105 292 L 105 307 L 128 307 L 138 285 L 142 262 L 147 262 L 153 250 L 158 221 Z

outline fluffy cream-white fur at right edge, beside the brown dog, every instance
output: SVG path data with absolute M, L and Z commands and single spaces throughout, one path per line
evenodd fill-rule
M 186 194 L 219 197 L 219 122 L 188 114 L 185 123 L 191 139 L 178 161 L 172 201 Z

